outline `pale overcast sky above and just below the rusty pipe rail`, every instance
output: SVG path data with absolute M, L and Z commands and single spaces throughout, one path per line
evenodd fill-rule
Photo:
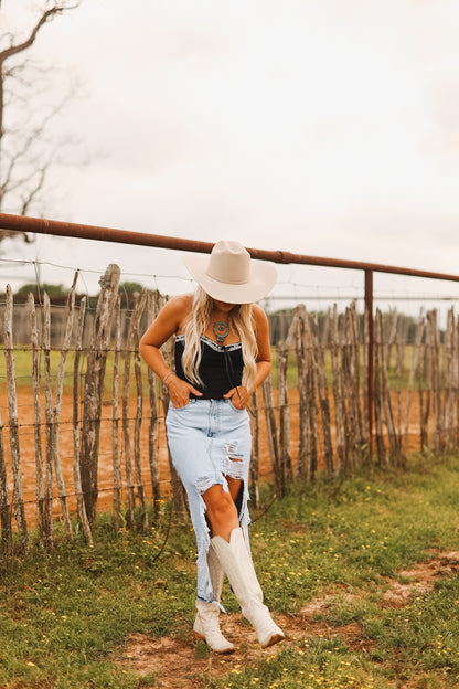
M 10 29 L 26 30 L 31 4 L 3 0 Z M 60 126 L 89 163 L 56 173 L 47 215 L 457 274 L 458 35 L 457 0 L 85 0 L 34 49 L 85 94 Z M 2 250 L 79 267 L 89 289 L 114 261 L 185 276 L 163 251 L 43 237 Z M 290 294 L 363 284 L 280 274 Z M 420 283 L 378 284 L 403 296 L 431 288 Z

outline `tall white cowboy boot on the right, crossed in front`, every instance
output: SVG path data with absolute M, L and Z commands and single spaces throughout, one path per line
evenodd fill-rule
M 281 642 L 285 638 L 284 632 L 279 629 L 268 608 L 263 604 L 263 591 L 255 573 L 243 530 L 241 528 L 234 529 L 230 543 L 221 536 L 214 536 L 211 541 L 212 548 L 230 580 L 242 613 L 255 628 L 261 647 L 267 648 Z

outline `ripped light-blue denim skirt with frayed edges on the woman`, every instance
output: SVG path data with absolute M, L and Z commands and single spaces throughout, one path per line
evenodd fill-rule
M 247 410 L 230 400 L 196 400 L 180 409 L 169 405 L 166 430 L 172 464 L 186 490 L 198 545 L 198 597 L 214 601 L 207 565 L 211 544 L 203 494 L 220 484 L 228 492 L 226 477 L 241 479 L 236 508 L 248 543 L 248 471 L 252 432 Z

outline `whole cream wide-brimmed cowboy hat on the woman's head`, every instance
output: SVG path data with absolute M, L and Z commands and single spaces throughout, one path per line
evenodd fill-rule
M 188 254 L 183 263 L 209 296 L 228 304 L 263 299 L 277 278 L 273 264 L 253 261 L 242 244 L 226 240 L 217 242 L 210 256 Z

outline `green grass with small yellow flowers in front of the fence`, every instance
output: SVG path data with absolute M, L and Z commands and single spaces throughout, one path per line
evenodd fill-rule
M 202 686 L 458 687 L 459 579 L 439 577 L 404 607 L 378 605 L 387 577 L 403 583 L 401 571 L 459 550 L 458 470 L 456 457 L 413 457 L 403 474 L 374 469 L 341 487 L 321 479 L 276 501 L 252 526 L 269 606 L 293 622 L 311 600 L 330 595 L 330 603 L 276 655 L 260 655 L 225 677 L 210 674 Z M 268 501 L 269 487 L 264 490 Z M 94 549 L 62 541 L 52 554 L 36 548 L 24 559 L 1 561 L 0 687 L 161 686 L 154 674 L 139 677 L 115 659 L 132 633 L 191 643 L 194 536 L 173 516 L 161 552 L 168 510 L 163 505 L 148 533 L 115 533 L 104 516 Z M 237 610 L 228 590 L 224 603 Z M 206 653 L 196 645 L 196 658 Z

